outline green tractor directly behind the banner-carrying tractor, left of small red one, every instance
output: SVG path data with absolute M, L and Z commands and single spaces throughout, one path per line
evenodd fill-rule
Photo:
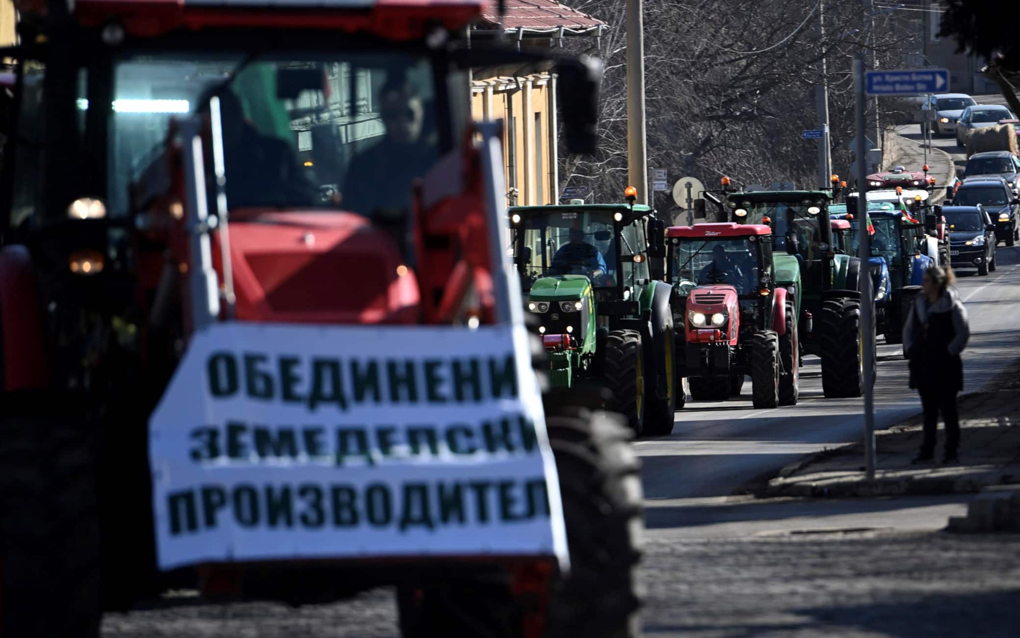
M 628 204 L 510 209 L 514 264 L 549 355 L 550 382 L 608 388 L 638 434 L 668 434 L 684 404 L 673 314 L 662 281 L 665 223 Z

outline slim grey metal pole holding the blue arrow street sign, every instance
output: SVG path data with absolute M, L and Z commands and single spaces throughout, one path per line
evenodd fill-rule
M 857 89 L 857 224 L 858 236 L 860 241 L 859 257 L 862 264 L 868 263 L 871 255 L 871 236 L 868 234 L 868 197 L 865 177 L 867 171 L 866 146 L 865 146 L 865 121 L 864 103 L 867 99 L 864 94 L 864 54 L 858 53 L 854 56 L 854 81 Z M 873 302 L 871 297 L 871 277 L 865 275 L 858 277 L 861 290 L 861 343 L 863 348 L 864 366 L 864 455 L 867 479 L 873 481 L 875 478 L 875 406 L 872 393 L 872 366 L 874 365 L 875 341 L 871 338 L 874 332 L 871 328 L 874 317 L 871 312 Z

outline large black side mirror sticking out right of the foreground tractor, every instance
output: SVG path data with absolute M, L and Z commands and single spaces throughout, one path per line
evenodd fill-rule
M 567 152 L 595 153 L 599 146 L 602 62 L 586 55 L 565 58 L 557 65 L 556 72 Z

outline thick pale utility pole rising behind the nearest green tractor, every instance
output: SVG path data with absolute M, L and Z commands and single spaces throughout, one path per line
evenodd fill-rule
M 648 141 L 645 137 L 645 20 L 643 0 L 627 0 L 627 174 L 638 204 L 648 204 Z

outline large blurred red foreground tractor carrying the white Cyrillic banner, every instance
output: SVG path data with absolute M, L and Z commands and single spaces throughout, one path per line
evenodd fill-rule
M 481 0 L 19 9 L 0 635 L 380 585 L 405 636 L 633 635 L 628 434 L 543 395 L 467 116 L 471 67 L 555 65 L 592 152 L 598 65 L 468 47 Z

